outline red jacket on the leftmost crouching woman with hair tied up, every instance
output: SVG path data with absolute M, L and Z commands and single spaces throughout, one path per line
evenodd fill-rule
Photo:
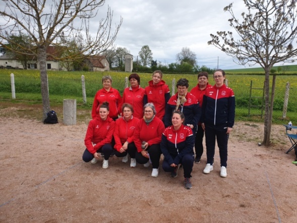
M 91 120 L 85 137 L 85 145 L 89 152 L 94 154 L 103 145 L 111 143 L 113 131 L 114 121 L 111 118 L 107 117 L 103 121 L 100 117 L 96 117 Z

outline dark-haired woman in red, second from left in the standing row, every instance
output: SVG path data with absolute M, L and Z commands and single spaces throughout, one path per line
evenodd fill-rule
M 123 93 L 123 103 L 129 103 L 133 106 L 133 117 L 142 119 L 144 88 L 140 87 L 140 77 L 134 73 L 129 76 L 130 87 L 125 88 Z M 122 114 L 123 115 L 123 114 Z

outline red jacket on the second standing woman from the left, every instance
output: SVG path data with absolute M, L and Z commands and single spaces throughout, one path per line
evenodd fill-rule
M 143 117 L 143 97 L 144 88 L 138 86 L 137 89 L 132 89 L 132 87 L 127 87 L 123 93 L 123 103 L 129 103 L 133 106 L 133 116 L 142 119 Z

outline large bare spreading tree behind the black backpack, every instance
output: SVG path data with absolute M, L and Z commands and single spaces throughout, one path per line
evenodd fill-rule
M 23 54 L 37 57 L 40 70 L 41 95 L 43 103 L 43 120 L 50 110 L 48 80 L 46 71 L 47 47 L 59 45 L 63 37 L 76 38 L 84 36 L 80 42 L 77 54 L 69 54 L 65 58 L 57 58 L 56 54 L 50 55 L 55 60 L 88 57 L 91 54 L 104 52 L 113 45 L 117 32 L 122 25 L 122 18 L 115 31 L 112 31 L 112 12 L 108 7 L 104 19 L 98 22 L 98 29 L 89 29 L 90 19 L 97 17 L 98 8 L 103 6 L 104 0 L 9 0 L 0 9 L 0 18 L 5 24 L 0 26 L 0 47 L 8 47 L 8 36 L 14 33 L 25 33 L 32 41 L 32 48 L 23 47 Z M 94 34 L 91 34 L 94 32 Z M 78 42 L 78 41 L 76 41 Z M 82 54 L 83 53 L 83 54 Z

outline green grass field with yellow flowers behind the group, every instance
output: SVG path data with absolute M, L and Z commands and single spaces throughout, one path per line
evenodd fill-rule
M 0 70 L 0 100 L 12 100 L 11 73 L 15 76 L 16 89 L 16 99 L 13 101 L 26 101 L 32 104 L 41 103 L 40 76 L 39 71 L 37 70 Z M 82 75 L 85 77 L 87 104 L 83 104 L 81 84 Z M 90 109 L 95 93 L 98 89 L 102 88 L 101 78 L 104 75 L 110 75 L 113 79 L 112 86 L 123 94 L 125 77 L 128 77 L 130 73 L 48 71 L 49 97 L 51 105 L 55 104 L 60 106 L 63 104 L 64 99 L 76 99 L 78 106 L 81 106 L 84 109 Z M 141 86 L 147 86 L 148 81 L 151 80 L 151 74 L 141 73 L 139 75 L 141 78 Z M 197 75 L 164 74 L 163 80 L 168 84 L 171 92 L 172 90 L 176 92 L 176 88 L 172 88 L 172 80 L 175 79 L 176 82 L 182 77 L 189 80 L 189 89 L 192 89 L 197 85 Z M 264 75 L 230 74 L 226 76 L 226 79 L 228 80 L 228 86 L 233 89 L 235 94 L 236 119 L 248 119 L 251 81 L 253 81 L 254 88 L 263 88 Z M 297 123 L 297 117 L 294 118 L 297 112 L 297 98 L 295 97 L 295 95 L 297 95 L 297 75 L 277 75 L 273 117 L 275 117 L 275 122 L 277 122 L 277 120 L 281 120 L 285 86 L 287 82 L 290 83 L 287 118 L 293 123 Z M 214 84 L 211 77 L 209 78 L 209 83 L 212 85 Z M 253 96 L 262 95 L 262 90 L 253 91 Z M 259 99 L 254 99 L 252 104 L 260 105 L 261 101 Z M 260 114 L 260 110 L 252 109 L 251 114 Z M 253 119 L 258 118 L 256 117 Z

